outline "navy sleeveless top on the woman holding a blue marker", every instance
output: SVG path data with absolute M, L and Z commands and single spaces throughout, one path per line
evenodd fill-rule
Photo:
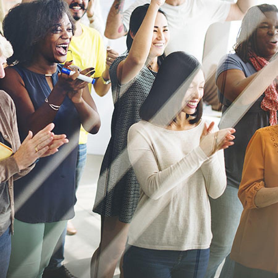
M 34 73 L 20 65 L 13 68 L 23 79 L 35 110 L 38 109 L 51 92 L 44 74 Z M 56 73 L 52 75 L 53 85 L 58 81 L 60 69 L 58 65 Z M 74 104 L 67 96 L 53 123 L 53 132 L 66 134 L 69 143 L 61 146 L 56 154 L 40 158 L 28 175 L 15 181 L 15 218 L 23 222 L 56 222 L 74 217 L 80 121 Z M 25 137 L 22 130 L 19 126 L 21 141 Z

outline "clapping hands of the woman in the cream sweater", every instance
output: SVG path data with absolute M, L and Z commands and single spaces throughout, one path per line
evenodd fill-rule
M 203 133 L 200 137 L 200 148 L 206 154 L 211 156 L 218 150 L 227 149 L 229 146 L 234 145 L 234 128 L 224 128 L 216 132 L 212 132 L 214 122 L 209 126 L 205 123 Z

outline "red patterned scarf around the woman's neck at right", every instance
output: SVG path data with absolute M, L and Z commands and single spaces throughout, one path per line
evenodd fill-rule
M 259 71 L 264 66 L 269 64 L 269 61 L 263 57 L 257 56 L 253 51 L 249 52 L 249 59 L 254 66 L 255 70 Z M 265 97 L 261 102 L 261 108 L 264 111 L 269 111 L 270 125 L 277 124 L 277 110 L 278 110 L 278 86 L 273 81 L 264 91 Z

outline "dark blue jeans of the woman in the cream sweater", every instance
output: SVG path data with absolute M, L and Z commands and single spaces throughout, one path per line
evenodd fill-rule
M 209 249 L 170 251 L 136 246 L 124 254 L 124 278 L 202 278 Z

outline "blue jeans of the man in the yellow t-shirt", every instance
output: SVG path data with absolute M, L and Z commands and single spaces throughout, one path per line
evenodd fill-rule
M 79 144 L 77 161 L 76 161 L 76 169 L 75 169 L 75 191 L 79 186 L 80 179 L 85 169 L 86 157 L 87 157 L 87 144 Z M 65 259 L 64 246 L 65 246 L 66 234 L 67 234 L 67 227 L 65 227 L 65 230 L 63 231 L 61 237 L 57 242 L 57 245 L 55 247 L 53 255 L 51 256 L 48 267 L 45 268 L 46 271 L 55 270 L 61 267 L 62 261 Z

